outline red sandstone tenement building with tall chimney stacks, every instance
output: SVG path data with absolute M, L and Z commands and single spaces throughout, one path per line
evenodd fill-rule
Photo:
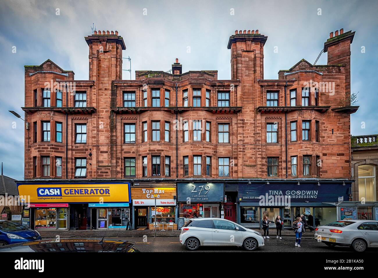
M 263 214 L 280 214 L 287 227 L 301 213 L 314 225 L 336 219 L 336 207 L 325 202 L 351 193 L 350 113 L 358 109 L 348 103 L 354 33 L 330 34 L 327 65 L 302 59 L 276 80 L 264 79 L 268 37 L 258 30 L 229 38 L 231 80 L 218 80 L 215 70 L 183 73 L 178 59 L 171 72 L 138 70 L 135 80 L 122 80 L 124 40 L 117 31 L 95 31 L 85 37 L 89 80 L 74 80 L 73 71 L 51 60 L 25 66 L 23 110 L 30 128 L 23 184 L 129 182 L 133 209 L 125 218 L 134 228 L 180 226 L 179 217 L 193 216 L 247 227 L 260 225 Z M 155 213 L 143 202 L 149 188 L 152 194 L 168 188 L 161 198 L 174 205 Z M 257 198 L 265 194 L 262 188 L 299 200 L 290 209 L 266 208 Z M 123 227 L 81 200 L 68 205 L 66 228 Z

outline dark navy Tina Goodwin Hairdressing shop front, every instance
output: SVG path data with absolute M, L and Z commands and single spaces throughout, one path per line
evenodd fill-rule
M 298 185 L 299 183 L 299 185 Z M 349 198 L 351 182 L 277 181 L 239 183 L 238 223 L 247 228 L 261 228 L 264 216 L 274 224 L 277 216 L 284 228 L 291 229 L 297 217 L 317 227 L 339 219 L 338 200 Z

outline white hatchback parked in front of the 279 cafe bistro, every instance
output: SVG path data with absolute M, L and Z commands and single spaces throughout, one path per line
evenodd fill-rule
M 242 246 L 248 251 L 264 246 L 257 231 L 222 218 L 195 218 L 181 228 L 180 243 L 188 250 L 200 246 Z

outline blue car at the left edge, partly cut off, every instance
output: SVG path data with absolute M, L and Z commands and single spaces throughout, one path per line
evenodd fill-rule
M 12 221 L 0 220 L 0 246 L 40 239 L 37 231 Z

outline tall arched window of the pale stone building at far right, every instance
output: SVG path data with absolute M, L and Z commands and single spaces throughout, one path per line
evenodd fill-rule
M 358 166 L 358 197 L 359 201 L 375 202 L 376 201 L 376 184 L 375 184 L 375 166 L 360 165 Z

